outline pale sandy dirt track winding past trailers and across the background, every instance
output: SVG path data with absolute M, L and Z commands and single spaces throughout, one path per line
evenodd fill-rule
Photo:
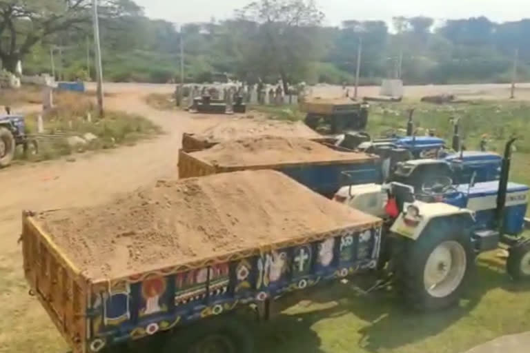
M 464 90 L 480 97 L 503 97 L 508 85 L 424 86 L 407 88 L 412 97 Z M 521 99 L 530 98 L 529 86 Z M 100 154 L 77 155 L 77 161 L 51 161 L 0 170 L 0 352 L 63 352 L 66 347 L 39 303 L 28 296 L 23 280 L 20 248 L 20 213 L 23 209 L 52 209 L 94 205 L 116 194 L 130 192 L 160 177 L 177 173 L 177 149 L 181 133 L 193 132 L 215 119 L 190 119 L 184 112 L 160 112 L 149 108 L 142 96 L 171 92 L 171 85 L 108 85 L 108 108 L 137 112 L 161 125 L 166 134 L 133 147 Z M 326 94 L 340 88 L 317 88 Z M 464 92 L 462 91 L 462 92 Z M 458 92 L 457 92 L 458 93 Z M 362 88 L 360 94 L 377 94 Z M 16 110 L 17 107 L 14 107 Z M 219 118 L 217 118 L 219 119 Z

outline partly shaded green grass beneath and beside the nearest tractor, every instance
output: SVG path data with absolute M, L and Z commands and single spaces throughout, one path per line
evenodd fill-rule
M 478 262 L 460 305 L 442 312 L 411 312 L 393 291 L 361 296 L 355 285 L 300 294 L 301 304 L 257 328 L 257 352 L 460 353 L 530 325 L 530 286 L 511 282 L 492 254 Z

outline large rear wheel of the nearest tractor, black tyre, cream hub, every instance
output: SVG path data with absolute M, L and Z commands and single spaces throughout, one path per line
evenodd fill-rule
M 395 239 L 397 286 L 418 310 L 440 310 L 458 302 L 474 265 L 471 237 L 436 222 L 416 241 Z

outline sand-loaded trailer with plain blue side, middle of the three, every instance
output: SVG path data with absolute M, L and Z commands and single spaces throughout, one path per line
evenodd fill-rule
M 200 177 L 237 170 L 283 172 L 324 196 L 344 185 L 380 183 L 379 157 L 302 137 L 259 136 L 222 141 L 195 152 L 179 151 L 179 177 Z

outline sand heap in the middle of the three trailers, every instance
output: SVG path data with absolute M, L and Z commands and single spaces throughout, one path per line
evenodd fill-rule
M 364 153 L 338 152 L 301 137 L 259 136 L 218 143 L 190 153 L 213 165 L 244 166 L 316 161 L 373 159 Z

